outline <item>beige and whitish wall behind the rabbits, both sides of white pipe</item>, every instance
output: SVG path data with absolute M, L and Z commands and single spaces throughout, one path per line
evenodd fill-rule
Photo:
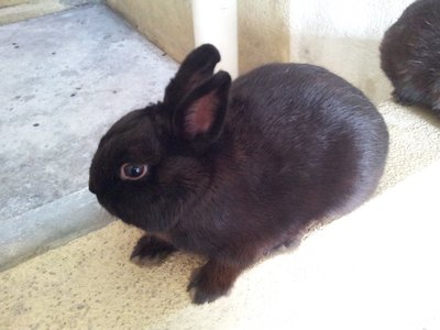
M 270 62 L 327 67 L 374 102 L 389 98 L 380 67 L 385 30 L 414 0 L 238 0 L 239 72 Z M 108 0 L 182 61 L 194 47 L 190 0 Z

